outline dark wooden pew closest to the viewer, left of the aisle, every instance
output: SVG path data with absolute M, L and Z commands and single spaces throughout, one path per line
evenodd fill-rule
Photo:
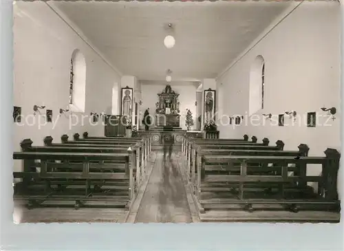
M 14 160 L 23 160 L 24 167 L 22 172 L 14 172 L 14 178 L 23 178 L 23 187 L 30 184 L 45 182 L 45 190 L 41 190 L 38 195 L 29 195 L 28 206 L 36 206 L 44 201 L 75 201 L 74 207 L 78 209 L 86 202 L 98 202 L 98 206 L 106 206 L 111 202 L 115 207 L 129 208 L 135 191 L 133 184 L 133 151 L 129 149 L 127 153 L 51 153 L 51 152 L 14 152 Z M 35 163 L 40 160 L 40 163 Z M 102 173 L 102 165 L 92 163 L 91 161 L 105 160 L 124 160 L 125 164 L 112 164 L 106 169 L 120 169 L 116 173 Z M 69 164 L 69 161 L 82 162 L 80 164 Z M 32 167 L 40 167 L 40 171 L 32 171 Z M 80 171 L 63 171 L 65 169 L 80 169 Z M 92 172 L 92 169 L 98 169 L 98 172 Z M 57 170 L 57 171 L 56 171 Z M 116 184 L 127 186 L 127 196 L 96 195 L 90 190 L 92 184 L 98 184 L 103 180 Z M 65 185 L 66 183 L 84 183 L 85 193 L 76 193 L 76 190 L 69 190 L 69 193 L 61 193 L 59 190 L 52 189 L 50 183 Z M 71 194 L 72 192 L 72 194 Z M 16 197 L 14 197 L 16 199 Z M 23 199 L 23 197 L 21 197 Z

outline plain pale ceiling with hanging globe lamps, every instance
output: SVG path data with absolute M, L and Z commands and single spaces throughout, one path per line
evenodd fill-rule
M 215 78 L 286 10 L 290 2 L 87 2 L 54 6 L 122 74 L 141 80 Z M 164 47 L 173 23 L 175 47 Z

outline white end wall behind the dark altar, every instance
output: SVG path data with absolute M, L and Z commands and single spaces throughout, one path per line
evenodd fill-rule
M 161 84 L 149 84 L 149 83 L 143 83 L 142 84 L 142 106 L 140 107 L 142 111 L 142 115 L 144 114 L 144 111 L 149 108 L 150 114 L 153 116 L 155 115 L 155 103 L 158 102 L 159 97 L 158 94 L 160 94 L 162 91 L 164 91 L 164 88 L 166 87 L 166 82 L 162 81 Z M 196 101 L 196 85 L 191 82 L 178 82 L 171 84 L 171 88 L 173 91 L 175 91 L 176 94 L 180 94 L 178 97 L 180 102 L 180 127 L 182 129 L 186 130 L 185 126 L 185 115 L 186 115 L 186 109 L 190 109 L 190 111 L 193 114 L 193 123 L 194 126 L 191 129 L 196 129 L 196 107 L 195 107 L 195 101 Z

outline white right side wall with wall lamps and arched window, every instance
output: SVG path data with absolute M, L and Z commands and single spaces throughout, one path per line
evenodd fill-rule
M 244 133 L 267 137 L 270 144 L 283 140 L 286 150 L 297 150 L 308 144 L 310 155 L 324 155 L 327 147 L 340 150 L 340 74 L 341 74 L 341 13 L 336 2 L 303 2 L 277 28 L 243 56 L 217 83 L 223 83 L 228 96 L 222 100 L 224 113 L 248 114 L 250 67 L 257 55 L 265 61 L 265 102 L 262 113 L 280 114 L 295 110 L 300 116 L 321 107 L 336 107 L 336 120 L 328 127 L 253 126 L 248 123 L 236 129 L 220 127 L 223 138 L 241 138 Z M 286 123 L 290 123 L 288 117 Z M 319 123 L 327 120 L 323 118 Z M 263 119 L 263 121 L 266 121 Z M 248 119 L 246 119 L 248 122 Z M 254 122 L 257 124 L 257 122 Z M 312 173 L 320 173 L 320 168 Z M 339 175 L 341 176 L 341 175 Z M 343 184 L 343 182 L 339 182 Z

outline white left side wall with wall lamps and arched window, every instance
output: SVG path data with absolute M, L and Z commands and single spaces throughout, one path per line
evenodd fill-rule
M 111 113 L 112 87 L 120 83 L 120 76 L 103 61 L 69 26 L 44 2 L 17 2 L 14 6 L 14 106 L 22 109 L 22 124 L 14 124 L 14 151 L 20 151 L 20 142 L 30 138 L 33 145 L 43 145 L 43 138 L 52 135 L 54 142 L 61 142 L 61 135 L 72 139 L 76 132 L 88 131 L 89 135 L 104 135 L 103 124 L 85 126 L 76 119 L 58 117 L 59 109 L 69 104 L 69 67 L 75 49 L 86 60 L 85 115 L 90 112 Z M 32 116 L 34 105 L 52 109 L 53 123 L 44 125 L 44 116 Z M 43 109 L 45 114 L 45 109 Z M 81 116 L 78 113 L 78 116 Z M 31 118 L 29 118 L 31 117 Z M 29 126 L 25 123 L 34 124 Z M 36 120 L 36 123 L 34 123 Z M 39 126 L 41 120 L 41 126 Z M 56 122 L 57 120 L 57 122 Z M 92 120 L 91 120 L 92 121 Z M 53 128 L 54 126 L 54 128 Z M 20 162 L 15 162 L 19 170 Z

